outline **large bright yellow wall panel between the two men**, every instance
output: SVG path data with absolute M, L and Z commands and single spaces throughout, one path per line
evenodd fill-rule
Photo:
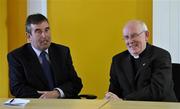
M 103 98 L 112 56 L 126 49 L 123 25 L 141 19 L 152 32 L 152 0 L 48 0 L 48 17 L 53 41 L 71 49 L 81 93 Z

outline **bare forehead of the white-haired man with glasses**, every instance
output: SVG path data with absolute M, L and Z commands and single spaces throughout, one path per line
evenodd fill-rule
M 129 22 L 124 26 L 123 34 L 133 34 L 142 31 L 142 25 L 139 22 Z

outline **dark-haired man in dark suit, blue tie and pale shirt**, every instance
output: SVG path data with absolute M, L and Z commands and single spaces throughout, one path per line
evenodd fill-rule
M 51 42 L 48 19 L 26 20 L 30 43 L 8 54 L 10 91 L 20 98 L 74 98 L 82 88 L 68 47 Z

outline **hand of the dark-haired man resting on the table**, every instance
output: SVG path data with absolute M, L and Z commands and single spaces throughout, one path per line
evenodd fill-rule
M 60 93 L 57 90 L 53 91 L 37 91 L 39 94 L 42 94 L 39 98 L 40 99 L 47 99 L 47 98 L 58 98 Z

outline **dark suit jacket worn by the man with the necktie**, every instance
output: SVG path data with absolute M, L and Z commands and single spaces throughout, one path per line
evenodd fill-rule
M 72 65 L 68 47 L 51 43 L 48 49 L 54 76 L 55 88 L 63 90 L 66 98 L 78 95 L 81 79 Z M 48 82 L 41 64 L 30 44 L 8 54 L 10 91 L 15 97 L 37 98 L 37 91 L 47 91 Z

